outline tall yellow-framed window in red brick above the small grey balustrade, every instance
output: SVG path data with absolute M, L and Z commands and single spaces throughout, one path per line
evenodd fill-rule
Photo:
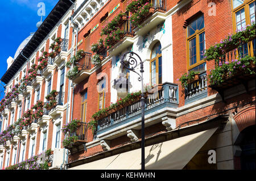
M 187 27 L 188 70 L 204 63 L 205 52 L 204 15 L 197 16 Z

